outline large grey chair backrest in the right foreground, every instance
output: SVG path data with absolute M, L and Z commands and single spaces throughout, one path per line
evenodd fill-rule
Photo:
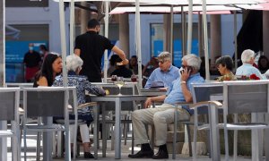
M 238 80 L 223 83 L 224 114 L 267 113 L 269 80 Z

